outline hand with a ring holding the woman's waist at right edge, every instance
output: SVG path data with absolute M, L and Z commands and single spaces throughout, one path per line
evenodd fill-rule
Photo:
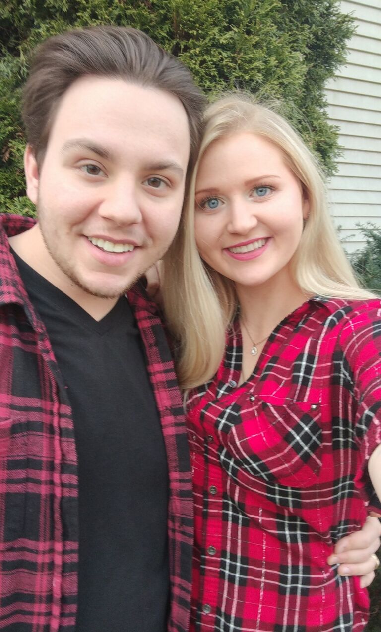
M 360 575 L 361 587 L 369 586 L 375 578 L 377 564 L 374 554 L 380 546 L 380 536 L 380 522 L 368 516 L 361 531 L 351 533 L 336 543 L 334 553 L 328 557 L 328 564 L 340 564 L 339 575 Z

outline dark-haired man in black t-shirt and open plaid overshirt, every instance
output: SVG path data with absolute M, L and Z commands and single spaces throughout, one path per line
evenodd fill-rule
M 0 241 L 0 629 L 187 630 L 182 403 L 135 282 L 177 229 L 203 103 L 134 29 L 65 33 L 35 56 L 39 221 L 3 216 Z

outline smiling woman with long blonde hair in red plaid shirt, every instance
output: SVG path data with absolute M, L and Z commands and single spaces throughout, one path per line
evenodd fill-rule
M 209 106 L 165 279 L 194 475 L 191 630 L 364 629 L 366 591 L 327 557 L 380 513 L 381 302 L 272 109 Z

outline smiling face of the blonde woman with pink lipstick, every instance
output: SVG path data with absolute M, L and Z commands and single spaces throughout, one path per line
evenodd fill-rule
M 275 145 L 250 132 L 211 143 L 195 209 L 197 248 L 213 269 L 242 286 L 290 281 L 309 204 Z

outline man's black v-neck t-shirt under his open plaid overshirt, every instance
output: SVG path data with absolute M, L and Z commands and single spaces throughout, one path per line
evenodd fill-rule
M 168 470 L 127 299 L 99 322 L 13 253 L 72 405 L 78 452 L 76 632 L 164 632 Z

